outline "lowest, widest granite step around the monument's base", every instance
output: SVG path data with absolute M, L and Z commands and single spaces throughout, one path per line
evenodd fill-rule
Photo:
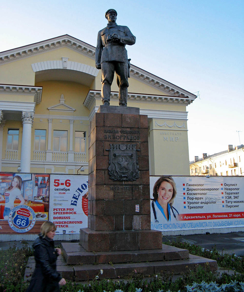
M 184 260 L 164 260 L 141 263 L 117 263 L 117 264 L 95 264 L 95 265 L 67 265 L 65 260 L 59 257 L 57 261 L 57 270 L 66 280 L 71 281 L 88 281 L 95 279 L 116 279 L 126 277 L 128 274 L 143 273 L 144 277 L 154 274 L 183 274 L 190 270 L 195 271 L 198 266 L 208 267 L 212 271 L 217 270 L 215 260 L 189 255 Z M 31 273 L 34 271 L 34 257 L 30 257 L 26 270 L 25 281 L 30 280 Z M 100 270 L 103 270 L 103 274 Z

